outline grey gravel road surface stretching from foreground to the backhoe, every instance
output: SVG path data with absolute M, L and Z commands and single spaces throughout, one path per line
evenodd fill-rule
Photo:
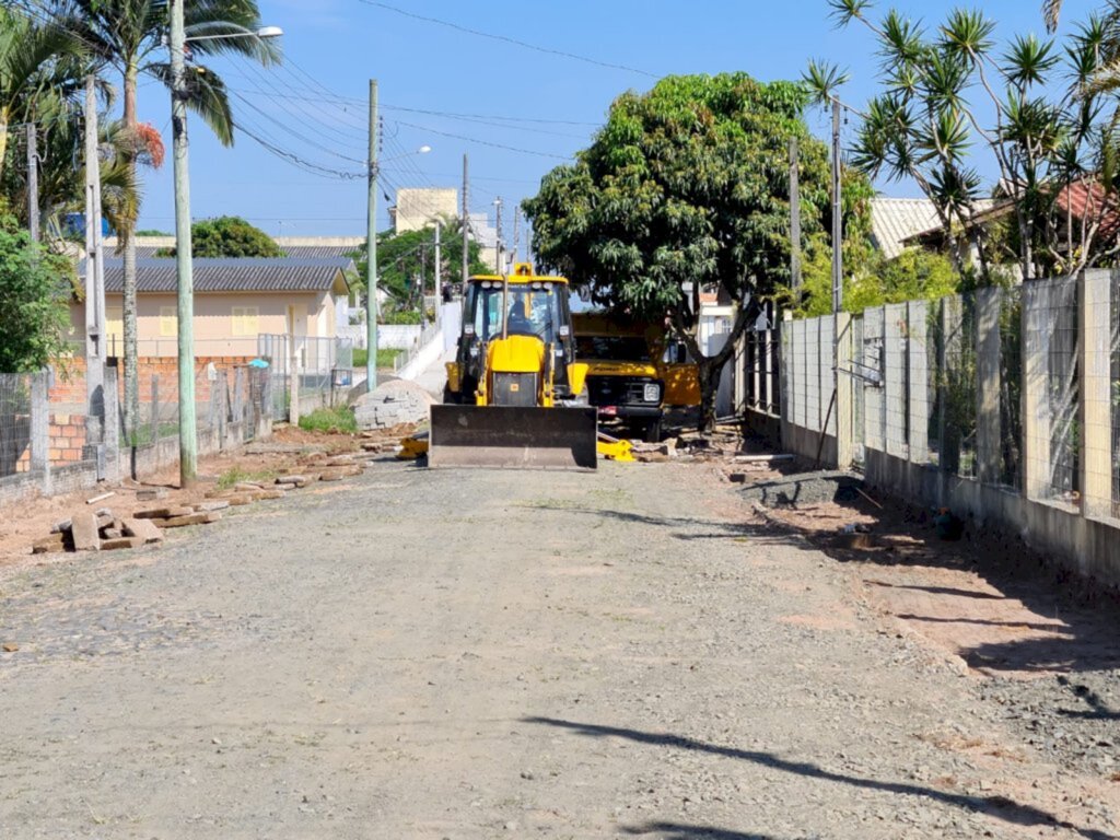
M 858 577 L 676 464 L 389 461 L 28 559 L 0 837 L 1116 837 L 1108 763 Z

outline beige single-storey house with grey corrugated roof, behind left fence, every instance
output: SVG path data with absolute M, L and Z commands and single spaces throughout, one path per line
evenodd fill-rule
M 260 335 L 290 335 L 298 343 L 337 335 L 345 301 L 348 256 L 195 259 L 195 355 L 254 356 Z M 84 273 L 84 265 L 82 267 Z M 124 265 L 105 261 L 105 333 L 110 356 L 123 355 Z M 137 351 L 141 357 L 178 355 L 176 261 L 137 260 Z M 73 339 L 85 340 L 85 302 L 71 307 Z M 308 340 L 305 340 L 308 339 Z

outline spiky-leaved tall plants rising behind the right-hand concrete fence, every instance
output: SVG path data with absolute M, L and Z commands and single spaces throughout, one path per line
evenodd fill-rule
M 881 58 L 880 92 L 859 109 L 851 161 L 872 178 L 917 184 L 959 273 L 973 253 L 983 286 L 1007 262 L 1027 280 L 1117 263 L 1120 233 L 1108 220 L 1120 199 L 1120 3 L 1061 43 L 1034 34 L 999 43 L 982 10 L 954 9 L 927 28 L 896 9 L 872 16 L 869 0 L 828 6 L 840 26 L 862 25 Z M 1051 25 L 1057 6 L 1046 4 Z M 847 78 L 813 62 L 804 81 L 829 103 Z M 999 172 L 993 190 L 982 188 L 973 149 Z M 1091 198 L 1070 200 L 1071 187 Z M 1002 206 L 996 235 L 990 220 L 977 222 L 987 198 Z

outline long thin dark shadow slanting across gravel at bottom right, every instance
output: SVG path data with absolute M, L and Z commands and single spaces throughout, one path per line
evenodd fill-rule
M 871 791 L 883 791 L 907 796 L 921 796 L 934 802 L 960 808 L 964 811 L 984 813 L 1005 822 L 1025 827 L 1054 827 L 1058 825 L 1075 831 L 1079 836 L 1088 840 L 1116 840 L 1116 834 L 1108 834 L 1095 829 L 1083 829 L 1070 822 L 1058 821 L 1053 814 L 1035 808 L 1025 805 L 1006 796 L 972 796 L 963 793 L 949 793 L 939 791 L 935 787 L 908 784 L 905 782 L 883 782 L 876 778 L 862 778 L 860 776 L 848 776 L 842 773 L 833 773 L 809 762 L 791 762 L 781 758 L 772 753 L 760 750 L 738 749 L 736 747 L 722 747 L 716 744 L 707 744 L 694 738 L 685 738 L 680 735 L 665 732 L 646 732 L 640 729 L 626 729 L 622 727 L 600 726 L 596 724 L 579 724 L 571 720 L 558 718 L 526 717 L 522 718 L 526 724 L 539 726 L 550 726 L 559 729 L 576 732 L 589 738 L 626 738 L 638 744 L 647 744 L 655 747 L 672 747 L 674 749 L 687 749 L 696 753 L 707 753 L 709 755 L 735 758 L 743 762 L 767 767 L 769 769 L 793 773 L 806 778 L 819 778 L 827 782 L 837 782 L 852 787 Z M 682 834 L 682 837 L 706 837 L 706 834 Z M 715 834 L 720 838 L 747 838 L 749 834 Z

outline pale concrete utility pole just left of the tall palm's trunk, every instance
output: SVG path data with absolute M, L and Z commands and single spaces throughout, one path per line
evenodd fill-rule
M 101 158 L 95 80 L 85 80 L 85 394 L 86 439 L 103 440 L 105 283 L 101 254 Z M 115 399 L 113 394 L 113 399 Z M 115 433 L 115 430 L 114 430 Z

